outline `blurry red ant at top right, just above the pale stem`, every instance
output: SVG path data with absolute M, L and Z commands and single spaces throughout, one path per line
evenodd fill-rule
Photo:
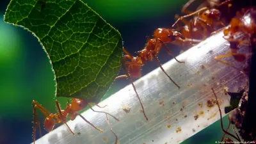
M 181 20 L 182 23 L 184 23 L 185 26 L 181 28 L 181 34 L 186 37 L 186 41 L 180 42 L 179 40 L 173 42 L 175 45 L 181 46 L 183 49 L 191 47 L 198 42 L 201 42 L 211 34 L 213 31 L 216 31 L 217 26 L 225 26 L 223 22 L 220 20 L 220 11 L 216 10 L 214 8 L 202 8 L 196 12 L 188 12 L 186 10 L 188 6 L 193 3 L 194 0 L 189 1 L 185 4 L 185 6 L 182 8 L 182 13 L 187 13 L 188 15 L 184 15 L 183 17 L 179 17 L 179 15 L 175 15 L 176 22 L 173 24 L 172 28 L 178 24 L 178 22 Z M 227 3 L 227 2 L 226 2 Z M 221 3 L 219 6 L 223 5 Z M 203 12 L 202 14 L 200 14 Z M 186 17 L 191 17 L 198 13 L 197 19 L 190 19 L 187 21 Z M 214 29 L 212 29 L 214 28 Z M 178 25 L 178 29 L 180 29 L 180 26 Z M 203 31 L 203 34 L 202 34 Z

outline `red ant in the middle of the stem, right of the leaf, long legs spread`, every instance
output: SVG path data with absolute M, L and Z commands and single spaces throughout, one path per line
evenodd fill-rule
M 164 48 L 168 52 L 168 54 L 173 56 L 172 52 L 168 49 L 166 44 L 171 43 L 177 39 L 186 41 L 185 40 L 186 38 L 183 35 L 181 35 L 181 33 L 179 33 L 178 31 L 175 31 L 174 29 L 158 28 L 154 32 L 154 38 L 150 39 L 149 36 L 147 36 L 147 44 L 145 45 L 144 49 L 137 52 L 139 56 L 134 57 L 126 49 L 123 48 L 123 51 L 126 54 L 124 56 L 123 63 L 126 65 L 129 65 L 129 66 L 128 66 L 128 70 L 126 70 L 126 68 L 124 67 L 125 71 L 127 71 L 126 72 L 127 74 L 118 76 L 118 77 L 116 77 L 116 79 L 119 79 L 121 77 L 129 77 L 132 87 L 134 88 L 134 91 L 140 101 L 143 115 L 145 116 L 146 120 L 148 120 L 148 118 L 145 114 L 145 110 L 143 108 L 143 104 L 141 103 L 140 97 L 139 97 L 138 93 L 136 92 L 136 88 L 133 84 L 133 79 L 141 77 L 141 67 L 143 67 L 143 65 L 145 65 L 145 63 L 147 63 L 147 61 L 153 61 L 153 59 L 155 59 L 157 62 L 157 65 L 159 65 L 159 67 L 164 72 L 164 74 L 166 74 L 166 76 L 178 88 L 180 88 L 180 86 L 177 83 L 175 83 L 175 81 L 173 81 L 173 79 L 170 76 L 168 76 L 168 74 L 164 71 L 164 68 L 161 66 L 161 63 L 159 62 L 159 60 L 157 58 L 157 54 L 161 50 L 162 46 L 164 46 Z M 177 60 L 177 58 L 175 58 L 175 56 L 173 56 L 173 58 L 179 63 L 184 63 L 184 61 Z

